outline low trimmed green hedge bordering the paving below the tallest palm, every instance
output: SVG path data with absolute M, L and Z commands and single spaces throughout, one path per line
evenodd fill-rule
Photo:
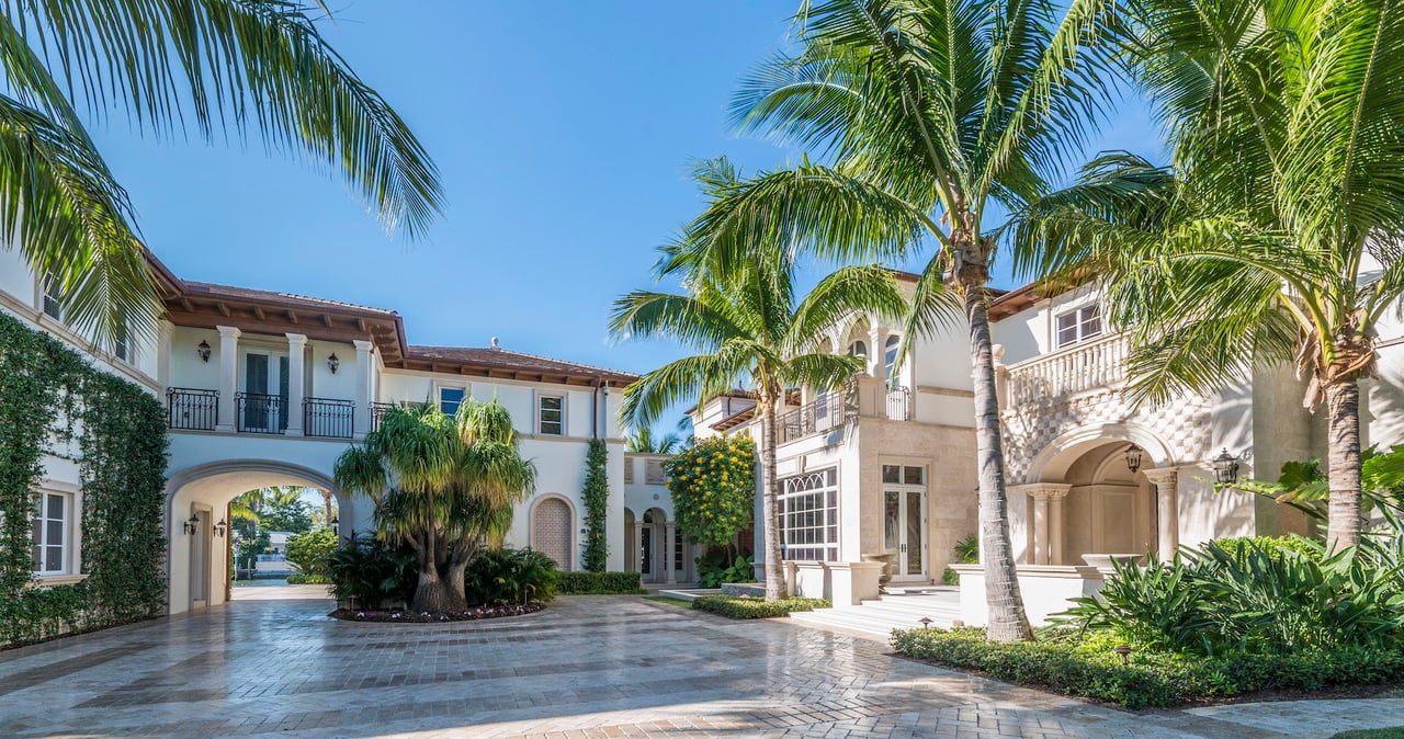
M 983 628 L 914 628 L 892 634 L 903 655 L 998 680 L 1082 696 L 1127 708 L 1167 708 L 1255 690 L 1314 691 L 1330 686 L 1404 680 L 1404 652 L 1345 648 L 1296 655 L 1185 658 L 1132 652 L 1122 665 L 1115 639 L 995 644 Z

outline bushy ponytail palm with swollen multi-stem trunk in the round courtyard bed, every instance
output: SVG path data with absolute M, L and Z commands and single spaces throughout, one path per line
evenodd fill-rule
M 517 449 L 511 415 L 496 400 L 395 408 L 362 446 L 336 464 L 338 488 L 366 496 L 379 533 L 409 545 L 418 562 L 411 607 L 445 613 L 468 606 L 463 575 L 484 547 L 500 547 L 512 506 L 536 487 L 536 468 Z

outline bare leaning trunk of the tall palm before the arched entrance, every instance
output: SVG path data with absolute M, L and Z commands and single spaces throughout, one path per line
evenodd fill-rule
M 984 597 L 993 641 L 1031 641 L 1033 630 L 1024 614 L 1019 578 L 1009 544 L 1009 499 L 1004 489 L 1004 445 L 1000 438 L 1000 398 L 994 384 L 994 349 L 983 285 L 965 285 L 966 318 L 970 321 L 970 356 L 974 362 L 974 445 L 980 471 L 980 558 L 984 561 Z

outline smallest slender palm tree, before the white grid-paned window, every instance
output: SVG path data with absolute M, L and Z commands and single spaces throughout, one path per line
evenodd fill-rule
M 699 401 L 740 384 L 755 391 L 761 421 L 761 496 L 765 537 L 765 599 L 785 597 L 779 495 L 775 467 L 776 415 L 786 388 L 834 388 L 863 370 L 862 359 L 819 352 L 819 337 L 845 316 L 896 317 L 906 301 L 892 272 L 847 266 L 797 294 L 795 273 L 781 259 L 753 262 L 724 278 L 701 272 L 685 294 L 633 292 L 615 303 L 616 337 L 671 338 L 695 349 L 625 388 L 623 416 L 647 425 L 677 402 Z

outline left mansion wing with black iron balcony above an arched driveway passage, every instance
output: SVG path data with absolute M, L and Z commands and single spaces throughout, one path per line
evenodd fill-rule
M 62 301 L 45 293 L 44 280 L 13 250 L 0 251 L 0 310 L 164 400 L 171 613 L 227 599 L 226 506 L 236 495 L 271 485 L 331 491 L 340 533 L 364 531 L 369 503 L 336 489 L 336 459 L 392 404 L 428 400 L 453 412 L 469 395 L 501 401 L 518 425 L 522 456 L 536 463 L 536 494 L 518 508 L 510 545 L 531 545 L 564 569 L 578 568 L 585 452 L 591 439 L 604 439 L 612 492 L 608 567 L 623 569 L 628 560 L 653 579 L 674 579 L 663 541 L 675 534 L 667 523 L 671 508 L 653 503 L 635 516 L 623 505 L 618 390 L 633 374 L 512 352 L 496 339 L 486 348 L 414 346 L 395 311 L 188 282 L 154 257 L 149 261 L 164 303 L 154 342 L 111 352 L 94 346 L 65 324 Z M 38 487 L 46 522 L 37 531 L 45 540 L 37 547 L 46 554 L 37 576 L 46 585 L 76 582 L 86 576 L 79 468 L 63 454 L 46 456 L 44 466 Z M 639 505 L 646 494 L 639 491 Z M 626 558 L 626 519 L 649 522 L 628 534 L 651 541 L 651 558 Z

